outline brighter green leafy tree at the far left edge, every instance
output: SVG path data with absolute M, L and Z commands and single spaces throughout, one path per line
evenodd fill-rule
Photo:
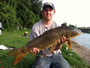
M 0 2 L 0 10 L 0 20 L 2 21 L 3 28 L 12 29 L 19 25 L 15 8 L 9 4 Z

